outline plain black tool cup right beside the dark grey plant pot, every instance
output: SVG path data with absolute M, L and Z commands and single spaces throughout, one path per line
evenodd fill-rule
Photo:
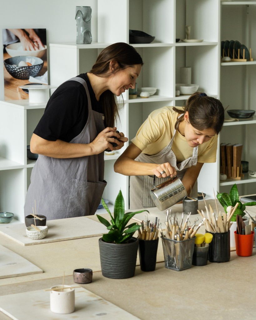
M 156 253 L 158 248 L 156 240 L 139 240 L 140 269 L 142 271 L 154 271 L 156 269 Z

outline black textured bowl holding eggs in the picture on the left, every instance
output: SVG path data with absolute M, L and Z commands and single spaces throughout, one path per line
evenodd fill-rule
M 20 61 L 29 62 L 32 66 L 19 67 Z M 35 77 L 43 68 L 44 61 L 37 57 L 17 56 L 4 60 L 4 67 L 16 79 L 26 80 Z

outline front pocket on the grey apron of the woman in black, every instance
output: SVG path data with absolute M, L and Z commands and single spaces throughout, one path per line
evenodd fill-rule
M 93 215 L 106 187 L 105 182 L 88 182 L 72 179 L 66 218 Z

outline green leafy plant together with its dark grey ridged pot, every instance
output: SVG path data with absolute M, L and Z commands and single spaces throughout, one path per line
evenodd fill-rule
M 99 239 L 102 275 L 112 279 L 130 278 L 134 276 L 139 246 L 139 239 L 133 237 L 133 234 L 140 226 L 137 222 L 127 224 L 135 214 L 147 210 L 124 213 L 124 198 L 121 190 L 116 197 L 114 216 L 103 198 L 101 201 L 111 218 L 109 222 L 97 214 L 100 222 L 109 230 Z

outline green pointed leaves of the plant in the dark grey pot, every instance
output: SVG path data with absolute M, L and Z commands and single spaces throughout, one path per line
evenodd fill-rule
M 114 206 L 114 217 L 110 213 L 107 204 L 101 199 L 103 207 L 107 210 L 109 213 L 111 220 L 109 223 L 108 220 L 97 214 L 98 219 L 101 223 L 104 224 L 104 226 L 107 227 L 109 232 L 107 234 L 104 234 L 102 236 L 102 239 L 106 242 L 121 244 L 121 243 L 127 243 L 131 237 L 133 236 L 134 232 L 140 229 L 140 226 L 137 222 L 131 223 L 127 226 L 127 223 L 130 219 L 136 214 L 140 212 L 144 212 L 148 210 L 140 210 L 137 212 L 127 212 L 124 213 L 124 197 L 122 195 L 121 190 L 118 193 L 118 196 L 116 197 L 115 206 Z

